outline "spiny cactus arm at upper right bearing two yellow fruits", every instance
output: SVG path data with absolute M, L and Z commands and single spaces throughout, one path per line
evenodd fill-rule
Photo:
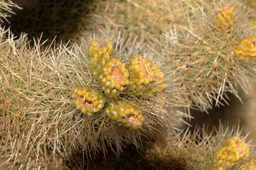
M 164 36 L 167 64 L 191 106 L 201 111 L 228 103 L 226 92 L 239 98 L 238 86 L 247 91 L 245 75 L 255 76 L 255 42 L 253 37 L 244 40 L 254 29 L 240 4 L 221 4 L 215 9 L 207 13 L 202 9 L 196 24 L 179 31 L 171 28 Z

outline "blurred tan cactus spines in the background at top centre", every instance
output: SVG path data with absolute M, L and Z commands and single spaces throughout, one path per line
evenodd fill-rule
M 198 3 L 208 6 L 209 1 L 198 0 Z M 156 50 L 160 49 L 155 40 L 159 39 L 170 25 L 185 24 L 187 14 L 193 21 L 195 17 L 192 11 L 199 10 L 195 8 L 193 0 L 181 3 L 174 0 L 95 0 L 87 9 L 90 13 L 86 15 L 86 27 L 94 28 L 107 24 L 113 28 L 122 29 L 122 33 L 129 38 L 137 36 L 142 38 Z

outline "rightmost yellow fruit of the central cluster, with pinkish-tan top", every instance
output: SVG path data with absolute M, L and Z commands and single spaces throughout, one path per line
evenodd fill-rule
M 129 82 L 135 95 L 154 94 L 165 89 L 164 73 L 157 64 L 142 56 L 134 56 L 129 62 L 128 70 Z

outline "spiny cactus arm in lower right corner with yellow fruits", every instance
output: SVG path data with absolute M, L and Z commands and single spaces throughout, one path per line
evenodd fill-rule
M 196 128 L 193 132 L 189 129 L 183 132 L 170 130 L 166 141 L 149 145 L 146 157 L 161 159 L 164 164 L 182 160 L 184 167 L 178 166 L 176 169 L 237 170 L 256 156 L 255 148 L 250 142 L 245 142 L 246 137 L 241 134 L 238 126 L 223 125 L 212 131 L 207 128 Z

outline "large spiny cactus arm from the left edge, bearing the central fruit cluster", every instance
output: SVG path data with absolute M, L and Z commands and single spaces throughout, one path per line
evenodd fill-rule
M 82 33 L 77 44 L 52 49 L 36 41 L 31 47 L 26 35 L 14 40 L 9 30 L 1 30 L 1 35 L 0 154 L 8 167 L 47 167 L 57 157 L 82 153 L 92 158 L 107 154 L 107 148 L 119 155 L 127 144 L 142 147 L 142 137 L 152 137 L 156 126 L 171 125 L 183 116 L 171 109 L 176 86 L 161 57 L 140 43 L 129 47 L 120 35 L 104 30 Z M 105 57 L 105 64 L 93 64 L 90 42 L 103 39 L 112 40 L 113 49 L 102 50 L 105 43 L 98 46 L 105 55 L 96 52 L 96 57 Z M 139 54 L 154 65 L 141 63 L 142 72 L 155 70 L 156 77 L 137 84 L 151 90 L 143 96 L 129 84 L 128 65 Z M 162 84 L 160 91 L 154 89 Z

